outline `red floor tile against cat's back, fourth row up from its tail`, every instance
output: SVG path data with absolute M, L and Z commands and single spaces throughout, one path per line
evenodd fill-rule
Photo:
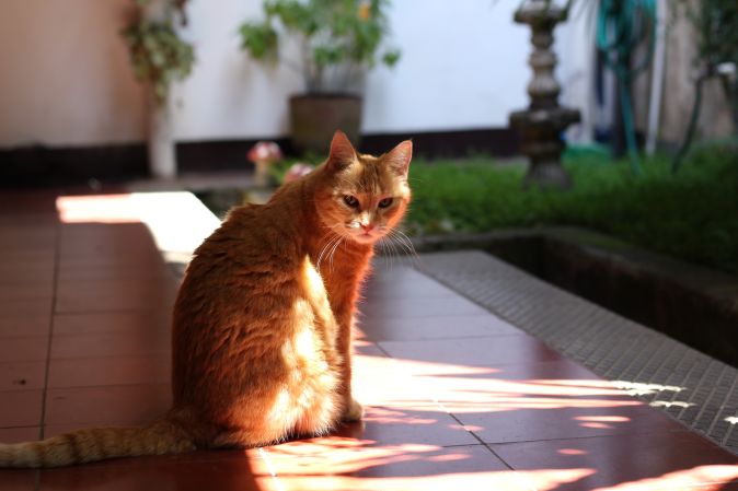
M 0 319 L 0 325 L 2 320 Z M 87 335 L 100 332 L 170 332 L 171 311 L 151 309 L 132 312 L 103 312 L 85 314 L 57 314 L 54 335 Z

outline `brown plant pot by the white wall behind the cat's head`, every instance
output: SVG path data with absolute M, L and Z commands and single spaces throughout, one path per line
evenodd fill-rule
M 361 139 L 361 104 L 358 95 L 308 94 L 289 101 L 295 150 L 324 154 L 335 130 L 346 133 L 354 145 Z

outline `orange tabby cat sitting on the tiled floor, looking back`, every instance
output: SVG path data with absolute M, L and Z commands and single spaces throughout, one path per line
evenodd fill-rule
M 0 444 L 0 467 L 251 447 L 361 418 L 351 326 L 373 244 L 410 201 L 412 143 L 373 157 L 337 131 L 325 163 L 231 210 L 195 252 L 173 318 L 173 408 L 142 428 Z

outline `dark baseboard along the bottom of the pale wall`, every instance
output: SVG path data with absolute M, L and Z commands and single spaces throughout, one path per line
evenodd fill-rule
M 382 153 L 412 139 L 416 155 L 428 159 L 459 157 L 470 153 L 510 156 L 519 142 L 508 128 L 366 135 L 360 150 Z M 249 168 L 246 152 L 254 139 L 183 142 L 176 145 L 180 173 L 208 173 Z M 292 154 L 287 138 L 275 140 Z M 88 183 L 120 183 L 148 174 L 145 143 L 96 147 L 30 145 L 0 149 L 0 188 L 39 187 Z

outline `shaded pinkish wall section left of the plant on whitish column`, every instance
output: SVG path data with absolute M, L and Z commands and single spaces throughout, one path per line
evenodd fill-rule
M 2 0 L 0 147 L 143 138 L 143 92 L 118 32 L 129 0 Z

